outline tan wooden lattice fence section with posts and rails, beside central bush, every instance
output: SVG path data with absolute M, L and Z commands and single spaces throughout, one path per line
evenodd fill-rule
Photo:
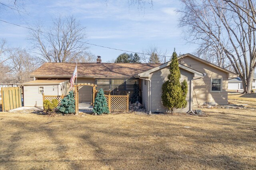
M 109 111 L 129 111 L 129 94 L 127 95 L 104 95 L 107 99 Z

